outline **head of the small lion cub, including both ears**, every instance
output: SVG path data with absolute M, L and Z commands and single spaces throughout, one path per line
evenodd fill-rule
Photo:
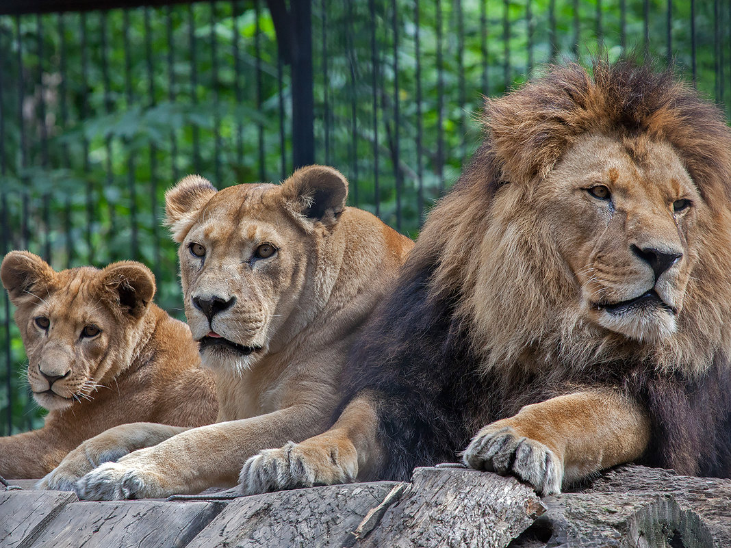
M 118 358 L 131 356 L 125 346 L 154 294 L 152 273 L 132 262 L 56 273 L 25 251 L 11 251 L 0 273 L 18 307 L 35 400 L 49 410 L 92 400 Z

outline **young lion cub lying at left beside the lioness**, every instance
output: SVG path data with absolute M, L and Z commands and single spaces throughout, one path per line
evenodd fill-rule
M 155 278 L 138 262 L 55 272 L 11 251 L 2 284 L 18 308 L 33 397 L 50 413 L 39 430 L 0 438 L 0 472 L 39 478 L 82 441 L 127 422 L 170 433 L 216 419 L 213 380 L 183 322 L 153 302 Z M 148 441 L 130 439 L 128 449 Z M 107 460 L 113 458 L 107 455 Z

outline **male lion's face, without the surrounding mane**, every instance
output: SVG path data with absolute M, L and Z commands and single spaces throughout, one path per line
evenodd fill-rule
M 588 135 L 538 192 L 586 318 L 635 340 L 662 340 L 697 261 L 705 208 L 669 145 Z

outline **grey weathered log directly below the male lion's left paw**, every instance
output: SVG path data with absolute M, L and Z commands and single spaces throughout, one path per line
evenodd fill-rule
M 281 491 L 237 498 L 189 548 L 341 547 L 397 482 Z

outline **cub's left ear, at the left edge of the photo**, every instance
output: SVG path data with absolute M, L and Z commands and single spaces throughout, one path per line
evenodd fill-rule
M 10 251 L 0 265 L 2 285 L 16 306 L 44 292 L 55 274 L 47 262 L 28 251 Z

